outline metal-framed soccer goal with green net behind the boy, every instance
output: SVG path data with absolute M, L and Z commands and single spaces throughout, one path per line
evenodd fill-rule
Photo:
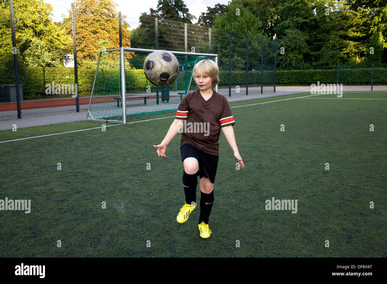
M 99 53 L 86 121 L 125 124 L 130 115 L 176 110 L 183 97 L 196 90 L 195 64 L 203 59 L 217 63 L 217 54 L 169 51 L 179 61 L 179 75 L 170 85 L 158 87 L 147 80 L 143 69 L 145 58 L 153 51 L 120 48 Z

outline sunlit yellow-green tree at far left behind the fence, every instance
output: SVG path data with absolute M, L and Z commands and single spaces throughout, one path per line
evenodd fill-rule
M 17 53 L 21 55 L 19 66 L 59 66 L 65 45 L 72 42 L 71 37 L 56 24 L 50 15 L 53 7 L 43 0 L 14 0 L 14 22 Z M 0 65 L 8 68 L 12 62 L 12 37 L 9 17 L 9 3 L 0 7 Z

